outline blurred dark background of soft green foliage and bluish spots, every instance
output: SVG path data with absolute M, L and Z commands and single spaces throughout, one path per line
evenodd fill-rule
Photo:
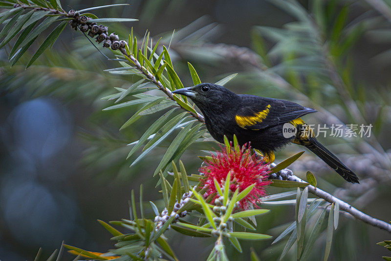
M 133 26 L 139 38 L 148 29 L 155 41 L 162 37 L 166 46 L 171 41 L 174 66 L 185 86 L 192 83 L 190 61 L 203 82 L 238 72 L 226 85 L 236 93 L 316 108 L 317 114 L 306 117 L 311 123 L 372 124 L 369 138 L 319 138 L 356 171 L 360 185 L 345 183 L 310 152 L 292 170 L 302 178 L 312 171 L 323 190 L 389 221 L 391 1 L 289 2 L 65 0 L 62 6 L 77 10 L 130 3 L 93 13 L 139 19 L 109 24 L 122 39 Z M 105 72 L 116 64 L 70 27 L 28 70 L 28 55 L 11 68 L 7 50 L 9 46 L 0 50 L 0 260 L 34 260 L 40 247 L 48 257 L 63 240 L 90 251 L 113 248 L 109 233 L 96 220 L 128 218 L 130 190 L 138 191 L 140 183 L 147 191 L 145 202 L 159 203 L 157 179 L 151 177 L 174 135 L 129 168 L 134 159 L 126 160 L 131 149 L 127 144 L 137 141 L 157 116 L 144 116 L 118 131 L 137 109 L 102 111 L 112 102 L 101 98 L 115 93 L 114 87 L 128 88 L 137 80 L 134 76 Z M 114 58 L 109 50 L 102 51 Z M 193 144 L 182 156 L 188 171 L 197 171 L 200 160 L 195 156 L 201 149 L 213 147 L 217 143 Z M 290 145 L 276 161 L 300 149 Z M 269 190 L 276 192 L 282 190 Z M 277 236 L 294 220 L 294 205 L 271 209 L 259 218 L 258 229 Z M 388 254 L 376 245 L 391 239 L 388 233 L 343 215 L 340 222 L 330 260 L 380 260 Z M 172 231 L 168 237 L 179 260 L 205 260 L 212 247 L 208 239 Z M 315 244 L 311 260 L 320 259 L 325 238 Z M 252 247 L 262 260 L 276 260 L 284 245 L 284 240 L 273 246 L 270 241 L 248 241 L 242 257 L 249 259 Z M 291 252 L 286 260 L 295 259 Z M 231 260 L 239 258 L 234 249 L 227 254 Z

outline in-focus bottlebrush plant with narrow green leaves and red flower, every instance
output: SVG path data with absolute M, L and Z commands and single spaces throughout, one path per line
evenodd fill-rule
M 298 3 L 287 2 L 291 4 L 290 9 L 298 10 Z M 191 144 L 204 142 L 210 138 L 203 123 L 204 118 L 186 97 L 172 93 L 184 85 L 174 70 L 169 52 L 170 44 L 166 47 L 159 44 L 160 40 L 152 41 L 149 33 L 146 33 L 141 41 L 137 40 L 132 30 L 126 39 L 121 39 L 120 36 L 110 33 L 109 26 L 101 23 L 133 22 L 135 19 L 98 18 L 88 13 L 94 9 L 118 5 L 121 4 L 65 11 L 59 0 L 0 0 L 0 7 L 4 8 L 0 11 L 0 24 L 4 24 L 0 32 L 0 39 L 3 39 L 0 47 L 11 44 L 8 52 L 11 65 L 23 59 L 22 55 L 45 29 L 53 24 L 56 24 L 56 27 L 26 62 L 26 67 L 33 65 L 45 49 L 53 46 L 67 23 L 73 29 L 86 33 L 88 39 L 93 37 L 97 43 L 112 50 L 115 58 L 111 60 L 118 62 L 118 67 L 106 71 L 114 75 L 125 74 L 131 77 L 128 88 L 117 87 L 116 93 L 102 98 L 114 102 L 104 111 L 142 105 L 121 126 L 121 130 L 134 124 L 141 117 L 161 115 L 138 141 L 129 144 L 133 147 L 128 158 L 137 155 L 143 147 L 131 166 L 148 157 L 148 154 L 171 134 L 177 134 L 153 173 L 153 176 L 160 177 L 158 185 L 161 187 L 164 207 L 159 209 L 156 206 L 159 204 L 150 202 L 154 215 L 147 215 L 144 212 L 141 186 L 139 211 L 132 191 L 129 219 L 109 223 L 99 221 L 113 235 L 111 239 L 116 241 L 114 249 L 100 253 L 64 245 L 71 253 L 92 260 L 177 260 L 170 240 L 166 237 L 166 231 L 170 229 L 189 237 L 213 238 L 214 247 L 208 260 L 228 260 L 226 249 L 232 245 L 241 252 L 241 239 L 270 240 L 271 236 L 267 234 L 271 233 L 258 232 L 260 228 L 255 218 L 260 215 L 261 219 L 262 214 L 269 211 L 262 207 L 268 205 L 296 206 L 295 214 L 292 216 L 295 220 L 284 230 L 281 227 L 276 229 L 282 233 L 270 242 L 276 244 L 290 235 L 286 243 L 279 246 L 280 259 L 286 256 L 295 243 L 297 260 L 308 258 L 316 240 L 325 231 L 324 259 L 327 260 L 333 231 L 338 227 L 340 209 L 391 232 L 389 224 L 363 214 L 346 202 L 319 189 L 311 172 L 307 172 L 308 182 L 305 182 L 285 169 L 303 152 L 278 165 L 265 164 L 259 152 L 252 150 L 251 147 L 240 147 L 236 139 L 233 143 L 225 139 L 222 151 L 212 152 L 211 156 L 201 156 L 203 163 L 199 168 L 200 173 L 188 175 L 179 159 Z M 87 41 L 86 43 L 91 44 Z M 193 84 L 201 83 L 194 67 L 190 63 L 188 67 Z M 217 81 L 217 84 L 224 85 L 236 75 L 229 75 Z M 267 186 L 297 190 L 266 195 Z M 316 197 L 309 198 L 309 192 Z M 292 199 L 294 196 L 296 198 Z M 325 230 L 323 223 L 326 219 Z M 53 253 L 49 260 L 54 260 L 55 256 Z M 254 252 L 252 258 L 257 259 Z

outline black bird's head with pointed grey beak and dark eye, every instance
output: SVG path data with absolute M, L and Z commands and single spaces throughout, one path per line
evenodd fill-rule
M 173 94 L 189 97 L 204 113 L 210 110 L 222 111 L 226 106 L 232 107 L 239 96 L 224 87 L 213 83 L 201 83 L 193 87 L 175 90 Z

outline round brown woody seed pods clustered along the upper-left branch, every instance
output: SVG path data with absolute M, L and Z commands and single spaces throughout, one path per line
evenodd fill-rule
M 124 40 L 119 41 L 118 35 L 115 33 L 108 33 L 108 27 L 103 24 L 96 24 L 91 22 L 92 18 L 80 15 L 79 12 L 75 10 L 70 10 L 68 12 L 68 17 L 72 18 L 69 21 L 69 24 L 72 28 L 79 30 L 81 32 L 87 33 L 89 37 L 95 37 L 95 41 L 98 43 L 103 42 L 103 47 L 111 47 L 113 50 L 124 49 L 127 45 L 127 42 Z

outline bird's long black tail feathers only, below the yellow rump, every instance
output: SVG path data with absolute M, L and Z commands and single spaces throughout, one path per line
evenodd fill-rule
M 343 164 L 337 156 L 329 151 L 322 143 L 318 142 L 315 138 L 310 137 L 304 144 L 310 151 L 315 153 L 326 164 L 332 167 L 335 172 L 340 174 L 346 181 L 351 183 L 359 183 L 357 175 L 351 171 L 345 164 Z

